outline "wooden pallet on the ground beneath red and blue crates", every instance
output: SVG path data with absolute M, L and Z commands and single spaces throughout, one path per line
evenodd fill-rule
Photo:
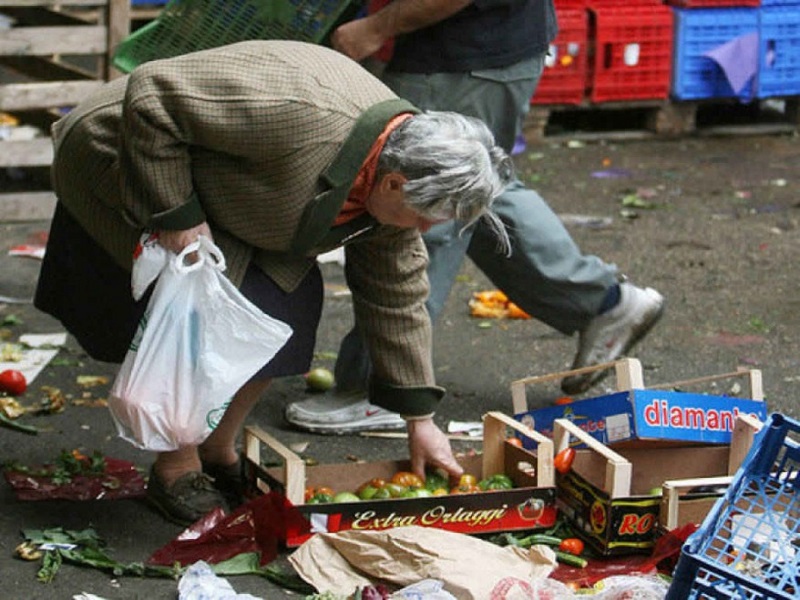
M 771 108 L 782 102 L 779 114 Z M 568 137 L 624 140 L 688 135 L 792 133 L 800 125 L 800 97 L 742 104 L 736 100 L 634 101 L 534 105 L 524 123 L 530 143 Z

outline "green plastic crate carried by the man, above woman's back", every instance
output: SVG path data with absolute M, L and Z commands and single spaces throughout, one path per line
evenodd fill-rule
M 150 60 L 245 40 L 324 43 L 361 8 L 358 0 L 170 0 L 158 17 L 123 40 L 113 62 L 128 73 Z

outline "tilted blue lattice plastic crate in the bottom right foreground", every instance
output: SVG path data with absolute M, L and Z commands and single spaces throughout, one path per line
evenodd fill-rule
M 773 414 L 684 544 L 667 600 L 800 597 L 800 423 Z

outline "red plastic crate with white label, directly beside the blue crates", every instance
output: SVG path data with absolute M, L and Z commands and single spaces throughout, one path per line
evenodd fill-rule
M 665 5 L 592 8 L 592 102 L 658 100 L 669 96 L 672 9 Z

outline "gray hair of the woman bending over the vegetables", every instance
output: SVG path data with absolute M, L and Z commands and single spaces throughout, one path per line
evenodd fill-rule
M 508 233 L 491 211 L 513 177 L 506 152 L 483 121 L 455 112 L 429 111 L 406 119 L 386 140 L 378 175 L 399 172 L 405 204 L 433 221 L 455 219 L 462 231 L 485 219 L 498 245 L 510 253 Z

